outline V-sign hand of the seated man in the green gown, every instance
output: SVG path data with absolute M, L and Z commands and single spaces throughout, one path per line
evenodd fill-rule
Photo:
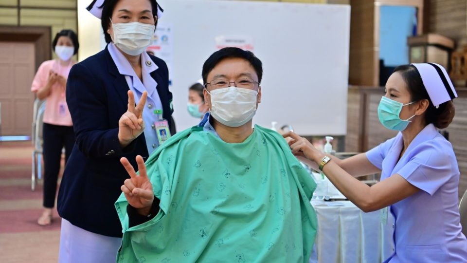
M 121 187 L 128 204 L 135 207 L 138 213 L 148 215 L 151 210 L 152 202 L 154 202 L 154 192 L 152 190 L 151 181 L 149 181 L 147 177 L 143 157 L 140 155 L 136 156 L 136 163 L 138 164 L 138 171 L 140 172 L 139 175 L 136 174 L 135 169 L 133 169 L 133 166 L 128 162 L 128 159 L 122 157 L 120 162 L 130 175 L 130 178 L 126 179 L 124 185 Z

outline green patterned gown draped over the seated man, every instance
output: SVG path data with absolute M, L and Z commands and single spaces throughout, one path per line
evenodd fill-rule
M 308 262 L 316 184 L 277 132 L 255 126 L 230 144 L 193 127 L 166 141 L 146 167 L 160 210 L 128 228 L 122 193 L 117 262 Z

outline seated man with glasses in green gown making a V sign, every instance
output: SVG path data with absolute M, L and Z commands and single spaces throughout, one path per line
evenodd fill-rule
M 138 156 L 139 174 L 122 158 L 118 262 L 308 262 L 316 184 L 279 133 L 252 128 L 262 75 L 249 51 L 215 52 L 202 71 L 211 112 Z

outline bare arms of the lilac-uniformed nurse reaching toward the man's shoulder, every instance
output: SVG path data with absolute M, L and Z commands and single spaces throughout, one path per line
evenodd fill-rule
M 293 132 L 288 132 L 284 136 L 290 136 L 292 138 L 289 145 L 293 154 L 314 162 L 316 166 L 321 163 L 325 155 L 316 150 L 305 138 Z M 366 158 L 366 161 L 362 160 L 363 158 Z M 340 165 L 346 166 L 347 169 L 357 175 L 364 174 L 364 169 L 369 169 L 373 172 L 377 168 L 370 163 L 365 154 L 356 155 L 353 160 L 347 163 L 345 163 L 344 160 L 337 160 L 336 162 L 336 159 L 338 158 L 331 159 L 324 166 L 323 173 L 345 197 L 364 212 L 387 207 L 420 190 L 398 174 L 394 174 L 384 181 L 370 187 L 341 168 Z M 362 165 L 363 167 L 351 168 L 349 167 L 351 165 Z M 373 168 L 371 166 L 373 166 Z

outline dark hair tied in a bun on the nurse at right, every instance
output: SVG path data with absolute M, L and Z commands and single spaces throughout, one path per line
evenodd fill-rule
M 432 123 L 438 129 L 445 129 L 449 126 L 454 118 L 455 109 L 454 104 L 451 100 L 441 103 L 439 107 L 433 106 L 430 96 L 428 95 L 425 86 L 423 85 L 422 77 L 418 72 L 417 68 L 413 65 L 402 65 L 395 68 L 394 72 L 399 72 L 402 75 L 412 101 L 419 101 L 422 99 L 428 99 L 430 105 L 425 112 L 425 123 Z

